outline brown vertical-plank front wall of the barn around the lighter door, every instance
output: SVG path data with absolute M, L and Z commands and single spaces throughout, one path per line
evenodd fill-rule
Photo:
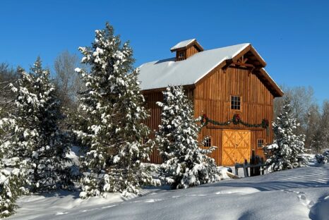
M 263 118 L 269 121 L 273 118 L 273 94 L 263 85 L 256 75 L 242 68 L 222 68 L 213 71 L 213 74 L 196 85 L 194 90 L 195 116 L 207 114 L 215 121 L 229 121 L 234 114 L 239 114 L 246 123 L 261 123 Z M 231 110 L 230 97 L 241 97 L 241 110 Z M 257 147 L 258 138 L 265 143 L 273 142 L 272 128 L 270 133 L 263 128 L 247 128 L 242 125 L 212 126 L 209 124 L 201 130 L 200 138 L 211 137 L 212 144 L 217 146 L 212 157 L 217 164 L 221 164 L 222 129 L 251 130 L 251 149 L 263 156 L 263 149 Z

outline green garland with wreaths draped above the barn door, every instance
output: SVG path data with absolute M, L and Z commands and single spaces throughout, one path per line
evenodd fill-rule
M 251 124 L 251 123 L 246 123 L 245 121 L 242 121 L 239 114 L 234 114 L 234 116 L 231 120 L 225 121 L 225 122 L 212 120 L 212 119 L 208 118 L 208 116 L 206 114 L 203 114 L 201 116 L 202 126 L 207 126 L 208 123 L 212 123 L 215 126 L 228 126 L 230 123 L 233 123 L 234 125 L 241 124 L 241 125 L 249 127 L 249 128 L 265 128 L 267 135 L 270 135 L 270 123 L 269 123 L 268 119 L 266 119 L 266 118 L 263 118 L 262 122 L 259 124 Z

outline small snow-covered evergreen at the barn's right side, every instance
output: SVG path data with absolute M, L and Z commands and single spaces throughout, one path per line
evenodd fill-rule
M 285 98 L 277 120 L 273 122 L 275 140 L 272 145 L 264 147 L 266 164 L 271 171 L 281 171 L 305 166 L 304 135 L 295 135 L 299 126 L 294 118 L 289 97 Z

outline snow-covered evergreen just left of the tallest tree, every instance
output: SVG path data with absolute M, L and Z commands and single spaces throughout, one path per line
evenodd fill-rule
M 57 126 L 62 117 L 59 99 L 40 58 L 30 73 L 23 69 L 19 73 L 18 85 L 11 85 L 16 94 L 16 109 L 8 118 L 15 121 L 15 128 L 6 130 L 11 137 L 1 145 L 6 149 L 4 159 L 15 161 L 15 166 L 25 171 L 30 190 L 53 189 L 69 181 L 64 169 L 69 147 Z

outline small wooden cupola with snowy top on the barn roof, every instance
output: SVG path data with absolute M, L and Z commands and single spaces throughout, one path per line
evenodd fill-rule
M 179 42 L 170 51 L 176 51 L 176 61 L 184 61 L 193 54 L 203 51 L 203 47 L 196 41 L 196 39 L 187 39 Z

